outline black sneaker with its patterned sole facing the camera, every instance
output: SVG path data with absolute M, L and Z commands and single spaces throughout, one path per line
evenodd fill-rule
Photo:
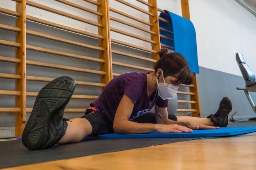
M 48 148 L 64 136 L 67 128 L 63 119 L 64 109 L 74 89 L 74 80 L 64 76 L 54 79 L 40 90 L 22 134 L 22 143 L 26 148 Z

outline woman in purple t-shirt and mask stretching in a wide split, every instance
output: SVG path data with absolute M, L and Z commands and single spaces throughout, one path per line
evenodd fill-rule
M 74 80 L 64 76 L 49 82 L 36 97 L 22 134 L 24 146 L 37 150 L 114 132 L 181 133 L 226 127 L 232 109 L 228 97 L 207 118 L 168 115 L 168 99 L 175 97 L 180 84 L 193 82 L 193 73 L 179 53 L 163 49 L 159 56 L 153 73 L 124 73 L 112 79 L 81 118 L 63 118 L 75 89 Z M 139 117 L 146 119 L 154 106 L 154 120 L 141 121 Z

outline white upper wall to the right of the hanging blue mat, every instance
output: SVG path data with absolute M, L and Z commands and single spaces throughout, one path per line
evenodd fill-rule
M 235 0 L 191 1 L 198 38 L 199 65 L 241 75 L 235 60 L 243 53 L 256 71 L 256 18 Z

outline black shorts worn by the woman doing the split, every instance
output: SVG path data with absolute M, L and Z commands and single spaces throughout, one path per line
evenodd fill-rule
M 89 136 L 114 133 L 113 123 L 108 119 L 108 117 L 104 113 L 100 111 L 87 109 L 85 115 L 83 115 L 82 118 L 87 119 L 92 125 L 92 133 Z M 177 117 L 171 114 L 168 115 L 168 119 L 177 121 Z M 146 113 L 145 115 L 133 119 L 133 121 L 138 123 L 156 124 L 155 113 Z

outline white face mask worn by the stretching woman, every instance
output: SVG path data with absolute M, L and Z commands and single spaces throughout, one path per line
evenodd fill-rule
M 163 71 L 162 71 L 162 77 L 164 80 L 164 75 L 163 75 Z M 176 96 L 177 91 L 178 91 L 178 86 L 175 86 L 173 84 L 167 84 L 165 83 L 158 83 L 158 79 L 157 79 L 157 91 L 158 91 L 158 95 L 163 99 L 172 99 Z

